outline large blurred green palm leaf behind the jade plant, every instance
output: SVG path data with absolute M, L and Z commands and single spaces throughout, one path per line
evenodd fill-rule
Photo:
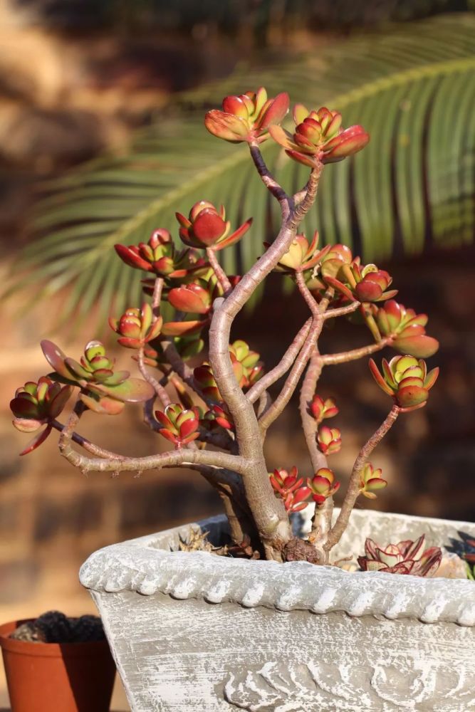
M 325 169 L 308 233 L 318 227 L 323 241 L 353 244 L 366 261 L 417 253 L 429 241 L 471 241 L 474 50 L 475 19 L 459 14 L 339 41 L 283 66 L 238 68 L 184 95 L 187 112 L 141 132 L 130 155 L 97 159 L 52 184 L 38 206 L 41 236 L 21 264 L 34 269 L 43 295 L 72 285 L 64 318 L 93 305 L 101 317 L 111 304 L 120 312 L 137 303 L 139 290 L 113 244 L 146 240 L 159 226 L 176 232 L 174 211 L 207 199 L 223 202 L 234 225 L 254 216 L 251 233 L 223 256 L 231 272 L 249 268 L 275 212 L 246 147 L 211 137 L 203 107 L 259 85 L 270 95 L 286 89 L 310 107 L 328 104 L 345 125 L 361 123 L 372 135 L 354 159 Z M 308 169 L 270 141 L 263 154 L 288 190 L 306 182 Z

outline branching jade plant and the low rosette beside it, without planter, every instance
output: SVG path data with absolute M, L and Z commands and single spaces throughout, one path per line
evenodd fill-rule
M 204 120 L 218 139 L 248 144 L 263 186 L 281 211 L 281 228 L 271 244 L 261 247 L 251 218 L 236 227 L 226 219 L 224 206 L 203 199 L 188 216 L 177 213 L 177 242 L 159 228 L 145 236 L 146 242 L 116 245 L 117 258 L 142 273 L 144 301 L 110 318 L 110 327 L 118 343 L 133 352 L 141 378 L 117 370 L 97 340 L 88 342 L 80 360 L 46 340 L 41 345 L 52 372 L 19 388 L 11 410 L 16 428 L 36 431 L 23 454 L 56 430 L 61 455 L 84 473 L 187 466 L 219 492 L 229 518 L 229 550 L 278 562 L 327 564 L 357 499 L 374 499 L 387 486 L 370 457 L 401 414 L 426 404 L 438 369 L 427 371 L 424 358 L 437 351 L 438 342 L 426 334 L 426 315 L 395 300 L 397 290 L 387 271 L 363 264 L 343 244 L 320 245 L 317 232 L 310 239 L 302 234 L 301 223 L 314 204 L 326 164 L 353 156 L 370 137 L 361 126 L 343 129 L 338 111 L 309 111 L 303 105 L 293 109 L 295 127 L 288 132 L 280 125 L 288 107 L 286 93 L 268 98 L 260 88 L 226 97 L 222 110 L 209 111 Z M 264 162 L 260 146 L 267 140 L 276 141 L 291 160 L 308 168 L 306 184 L 294 194 L 286 192 Z M 254 241 L 256 255 L 261 254 L 246 274 L 226 274 L 218 253 L 240 240 Z M 293 298 L 304 300 L 308 318 L 276 365 L 265 370 L 259 354 L 241 335 L 233 333 L 231 338 L 231 330 L 271 272 L 295 283 Z M 347 320 L 349 328 L 366 329 L 367 345 L 320 352 L 320 333 L 337 318 Z M 383 359 L 379 367 L 371 359 L 369 367 L 387 397 L 387 417 L 357 454 L 343 492 L 331 468 L 343 441 L 334 426 L 338 406 L 320 391 L 318 380 L 326 367 L 375 355 L 385 347 L 397 355 Z M 271 387 L 276 389 L 274 397 Z M 311 466 L 298 473 L 283 463 L 268 473 L 266 434 L 298 388 Z M 58 418 L 73 393 L 71 414 L 61 422 Z M 142 404 L 145 424 L 172 449 L 128 457 L 78 432 L 85 413 L 113 416 L 130 402 Z M 333 522 L 335 495 L 341 498 L 341 508 Z M 306 538 L 298 538 L 290 515 L 308 503 L 315 503 L 311 530 Z M 431 574 L 439 552 L 421 554 L 421 547 L 422 539 L 385 547 L 369 540 L 360 566 Z

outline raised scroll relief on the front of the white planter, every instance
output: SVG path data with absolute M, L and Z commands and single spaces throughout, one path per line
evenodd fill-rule
M 248 712 L 475 710 L 473 675 L 407 658 L 372 666 L 269 661 L 257 671 L 231 674 L 224 698 Z

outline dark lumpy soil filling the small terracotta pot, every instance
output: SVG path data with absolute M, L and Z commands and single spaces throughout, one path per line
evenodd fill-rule
M 10 635 L 31 643 L 86 643 L 105 639 L 98 616 L 70 618 L 59 611 L 48 611 L 21 624 Z

